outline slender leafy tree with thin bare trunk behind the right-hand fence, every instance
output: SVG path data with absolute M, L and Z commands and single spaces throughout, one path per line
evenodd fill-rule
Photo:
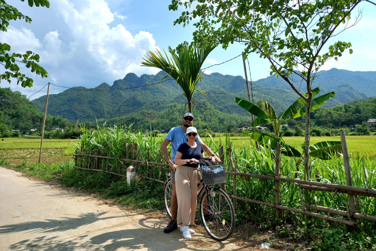
M 195 9 L 191 9 L 193 2 L 199 3 Z M 356 24 L 357 18 L 350 23 L 350 14 L 361 2 L 363 0 L 173 0 L 169 9 L 186 8 L 174 24 L 185 25 L 194 20 L 193 43 L 220 43 L 225 49 L 233 42 L 243 43 L 244 55 L 256 52 L 267 59 L 270 74 L 282 77 L 306 102 L 304 155 L 308 170 L 315 75 L 328 59 L 337 60 L 346 49 L 352 53 L 351 43 L 327 43 Z

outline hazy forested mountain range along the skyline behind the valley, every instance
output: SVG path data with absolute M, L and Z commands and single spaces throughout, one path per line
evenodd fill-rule
M 158 83 L 164 76 L 162 71 L 157 75 L 144 74 L 140 77 L 128 73 L 123 79 L 114 81 L 112 86 L 102 83 L 96 88 L 75 87 L 74 89 L 84 90 L 68 89 L 52 94 L 49 96 L 48 113 L 71 122 L 94 122 L 96 119 L 112 119 L 142 111 L 162 111 L 174 103 L 184 104 L 186 97 L 180 87 L 174 84 L 174 80 Z M 314 84 L 321 86 L 322 93 L 336 91 L 336 97 L 325 105 L 332 107 L 352 99 L 376 96 L 375 79 L 376 71 L 353 72 L 334 68 L 320 71 Z M 148 86 L 141 87 L 144 85 Z M 254 101 L 267 100 L 278 113 L 298 98 L 282 78 L 274 75 L 253 82 L 252 87 Z M 194 100 L 205 99 L 212 107 L 225 114 L 248 115 L 234 100 L 234 97 L 248 99 L 243 77 L 220 73 L 204 74 L 197 89 L 205 90 L 208 96 L 196 92 Z M 42 96 L 33 100 L 41 111 L 44 111 L 45 98 Z

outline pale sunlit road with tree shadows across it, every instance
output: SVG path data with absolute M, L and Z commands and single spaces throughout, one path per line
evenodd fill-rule
M 165 234 L 166 223 L 0 167 L 1 251 L 241 250 L 205 231 Z

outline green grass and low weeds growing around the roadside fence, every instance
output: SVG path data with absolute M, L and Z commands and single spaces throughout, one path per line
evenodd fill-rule
M 126 157 L 132 148 L 132 144 L 137 143 L 139 146 L 139 153 L 136 155 L 137 159 L 145 160 L 147 158 L 144 155 L 146 149 L 151 150 L 151 160 L 160 162 L 163 160 L 159 153 L 159 146 L 163 140 L 162 137 L 155 137 L 149 134 L 143 134 L 141 131 L 134 134 L 130 127 L 121 128 L 118 126 L 112 126 L 107 128 L 106 126 L 98 126 L 96 131 L 87 131 L 82 128 L 85 133 L 82 134 L 78 144 L 77 150 L 83 146 L 83 153 L 102 154 L 113 157 Z M 362 136 L 363 138 L 371 138 L 372 136 Z M 348 139 L 349 145 L 352 138 L 362 138 L 360 136 L 350 136 Z M 319 137 L 315 137 L 317 140 L 322 140 Z M 119 140 L 120 139 L 120 140 Z M 242 137 L 243 141 L 247 138 Z M 273 175 L 274 173 L 274 151 L 267 148 L 261 148 L 257 150 L 254 148 L 251 141 L 244 143 L 236 143 L 233 138 L 230 137 L 215 137 L 204 138 L 207 145 L 217 151 L 220 144 L 226 144 L 232 146 L 232 159 L 237 160 L 237 171 L 257 173 L 265 175 Z M 297 145 L 297 148 L 301 144 L 302 137 L 291 137 L 288 140 L 297 140 L 296 143 L 288 142 L 291 145 Z M 52 140 L 53 141 L 53 140 Z M 67 142 L 67 141 L 66 141 Z M 367 141 L 364 142 L 364 145 Z M 3 142 L 4 143 L 4 142 Z M 370 140 L 369 144 L 372 145 L 373 141 Z M 15 145 L 15 144 L 12 144 Z M 361 147 L 363 151 L 366 147 Z M 109 148 L 109 146 L 111 146 Z M 130 153 L 130 155 L 132 155 Z M 367 154 L 366 154 L 367 155 Z M 353 186 L 363 187 L 365 182 L 364 173 L 367 173 L 367 182 L 371 187 L 376 186 L 376 176 L 374 170 L 376 169 L 376 163 L 374 159 L 365 156 L 362 157 L 350 155 L 350 165 L 352 166 Z M 0 158 L 2 159 L 2 158 Z M 294 178 L 297 175 L 298 178 L 302 178 L 303 166 L 299 165 L 299 169 L 296 169 L 294 163 L 291 163 L 290 157 L 281 157 L 281 176 Z M 364 161 L 364 169 L 362 161 Z M 226 156 L 226 163 L 229 163 L 229 159 Z M 2 162 L 0 162 L 2 163 Z M 88 159 L 82 159 L 81 163 L 87 167 Z M 6 161 L 2 163 L 7 164 Z M 118 161 L 109 161 L 106 163 L 109 170 L 123 171 L 123 168 L 128 164 Z M 127 185 L 123 178 L 117 178 L 102 172 L 88 172 L 82 170 L 76 170 L 72 168 L 73 163 L 65 163 L 52 165 L 52 164 L 39 164 L 31 163 L 30 161 L 23 161 L 17 170 L 22 172 L 28 172 L 29 175 L 36 176 L 39 179 L 52 179 L 56 176 L 61 177 L 60 180 L 67 186 L 88 189 L 91 193 L 98 193 L 105 198 L 112 198 L 118 201 L 121 205 L 127 205 L 128 207 L 140 207 L 146 211 L 155 211 L 163 209 L 162 198 L 162 185 L 141 179 L 139 183 L 132 183 Z M 329 161 L 323 161 L 318 159 L 311 159 L 311 176 L 315 177 L 315 181 L 333 182 L 344 184 L 344 172 L 343 161 L 341 158 L 332 158 Z M 106 170 L 106 167 L 103 167 Z M 100 167 L 102 170 L 102 167 Z M 159 169 L 150 172 L 150 176 L 158 178 Z M 137 174 L 146 175 L 147 169 L 144 166 L 136 167 Z M 164 178 L 162 170 L 161 178 Z M 227 177 L 226 190 L 229 193 L 232 191 L 233 178 Z M 264 200 L 267 202 L 274 202 L 274 181 L 261 181 L 256 178 L 250 177 L 237 178 L 237 196 Z M 140 193 L 139 191 L 150 191 Z M 313 192 L 312 204 L 329 206 L 341 210 L 346 210 L 346 195 L 326 192 Z M 299 196 L 299 189 L 296 184 L 282 183 L 281 185 L 281 204 L 291 207 L 300 208 L 301 200 Z M 303 198 L 304 199 L 304 198 Z M 359 197 L 359 205 L 357 210 L 363 210 L 365 214 L 375 215 L 374 205 L 375 198 L 363 198 Z M 360 205 L 362 208 L 360 208 Z M 305 243 L 311 250 L 331 250 L 330 248 L 336 247 L 336 250 L 374 250 L 376 243 L 374 240 L 376 236 L 373 233 L 373 229 L 376 227 L 374 222 L 359 221 L 361 226 L 359 234 L 349 233 L 346 227 L 338 225 L 336 223 L 324 222 L 321 219 L 312 218 L 310 220 L 305 219 L 304 215 L 284 211 L 282 219 L 277 219 L 274 216 L 274 210 L 270 207 L 262 205 L 246 203 L 237 201 L 237 222 L 240 224 L 238 227 L 244 227 L 244 222 L 252 222 L 252 226 L 258 226 L 257 231 L 271 231 L 274 236 L 268 241 L 272 244 L 272 248 L 280 247 L 280 243 L 277 242 L 280 238 L 288 238 L 293 242 Z M 155 208 L 155 209 L 153 209 Z M 312 239 L 312 236 L 317 239 Z M 299 249 L 297 249 L 299 250 Z M 333 249 L 334 250 L 334 249 Z

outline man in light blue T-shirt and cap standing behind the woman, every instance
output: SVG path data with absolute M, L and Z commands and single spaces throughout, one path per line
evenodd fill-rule
M 171 171 L 171 182 L 172 182 L 172 194 L 171 194 L 171 221 L 167 225 L 167 227 L 164 229 L 165 233 L 170 233 L 171 231 L 175 230 L 177 228 L 177 223 L 176 223 L 176 216 L 177 216 L 177 198 L 176 198 L 176 190 L 175 190 L 175 170 L 177 168 L 177 165 L 174 163 L 175 160 L 175 155 L 177 148 L 179 146 L 186 142 L 186 130 L 188 127 L 193 125 L 193 114 L 192 113 L 185 113 L 182 119 L 183 125 L 182 126 L 177 126 L 171 128 L 171 130 L 168 132 L 167 136 L 165 137 L 162 145 L 161 145 L 161 151 L 162 154 L 167 160 L 167 163 L 172 167 Z M 217 161 L 220 162 L 221 159 L 218 158 L 212 151 L 211 149 L 205 145 L 200 136 L 197 135 L 197 142 L 201 142 L 203 150 L 209 154 L 211 157 L 212 161 Z M 167 152 L 167 146 L 168 144 L 171 143 L 171 158 L 168 155 Z

